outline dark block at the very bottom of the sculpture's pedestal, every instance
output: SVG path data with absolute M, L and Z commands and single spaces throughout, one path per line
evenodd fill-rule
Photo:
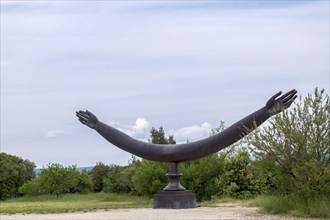
M 196 194 L 189 190 L 158 191 L 154 195 L 154 209 L 196 208 Z

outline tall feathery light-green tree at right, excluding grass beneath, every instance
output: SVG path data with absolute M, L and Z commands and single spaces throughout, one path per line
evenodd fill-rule
M 249 137 L 271 190 L 330 195 L 329 130 L 329 95 L 315 88 Z

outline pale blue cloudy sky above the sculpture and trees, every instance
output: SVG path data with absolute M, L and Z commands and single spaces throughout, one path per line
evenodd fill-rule
M 148 141 L 209 136 L 278 91 L 329 94 L 329 1 L 1 0 L 1 152 L 126 165 L 77 110 Z

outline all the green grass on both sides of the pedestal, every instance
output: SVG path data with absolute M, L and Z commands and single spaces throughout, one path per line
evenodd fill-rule
M 198 207 L 218 207 L 221 203 L 261 207 L 263 213 L 290 215 L 295 217 L 330 218 L 330 198 L 326 196 L 301 197 L 258 196 L 255 199 L 238 200 L 213 198 L 197 203 Z M 2 201 L 0 213 L 66 213 L 91 212 L 118 208 L 152 208 L 153 199 L 128 194 L 92 193 L 86 195 L 67 194 L 60 196 L 26 196 Z

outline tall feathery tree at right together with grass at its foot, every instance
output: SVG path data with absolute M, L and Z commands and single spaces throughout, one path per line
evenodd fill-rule
M 249 137 L 255 174 L 266 183 L 264 210 L 330 217 L 329 125 L 329 95 L 316 88 Z

